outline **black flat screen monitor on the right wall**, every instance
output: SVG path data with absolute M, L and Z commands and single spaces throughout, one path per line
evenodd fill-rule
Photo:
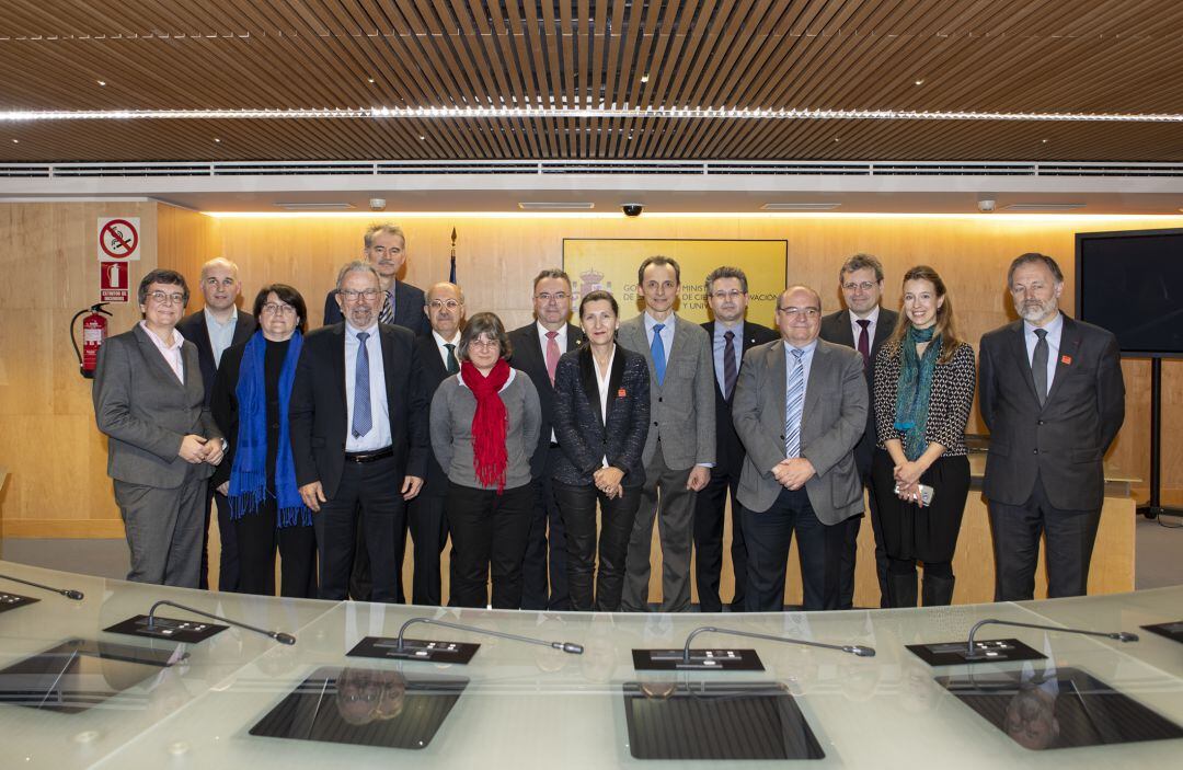
M 1125 356 L 1183 357 L 1183 229 L 1077 233 L 1077 318 Z

